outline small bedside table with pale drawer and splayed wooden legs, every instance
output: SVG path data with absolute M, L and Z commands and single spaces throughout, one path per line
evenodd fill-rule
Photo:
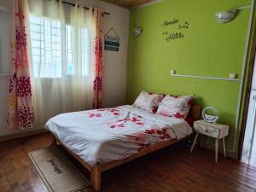
M 195 139 L 190 149 L 190 153 L 192 153 L 193 148 L 195 146 L 197 137 L 199 134 L 204 136 L 215 138 L 215 162 L 218 162 L 218 140 L 222 139 L 223 148 L 224 148 L 224 157 L 226 157 L 226 148 L 225 148 L 225 140 L 224 137 L 229 135 L 230 125 L 224 124 L 212 124 L 205 122 L 204 120 L 197 120 L 194 122 L 194 129 L 196 131 Z

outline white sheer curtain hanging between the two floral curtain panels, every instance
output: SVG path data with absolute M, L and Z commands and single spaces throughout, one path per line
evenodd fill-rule
M 30 0 L 32 87 L 37 125 L 59 113 L 91 108 L 92 10 Z

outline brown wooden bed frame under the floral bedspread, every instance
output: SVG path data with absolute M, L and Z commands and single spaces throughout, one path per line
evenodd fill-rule
M 201 106 L 193 104 L 189 116 L 193 118 L 194 120 L 200 119 L 200 113 L 201 113 Z M 73 157 L 79 161 L 89 172 L 90 172 L 90 184 L 93 189 L 96 191 L 100 191 L 101 189 L 101 175 L 102 172 L 106 172 L 109 169 L 112 169 L 115 166 L 122 165 L 126 162 L 129 162 L 131 160 L 135 160 L 139 157 L 142 157 L 146 154 L 152 153 L 156 150 L 159 150 L 160 148 L 166 148 L 174 143 L 178 143 L 180 141 L 183 141 L 187 139 L 188 137 L 182 138 L 180 140 L 170 140 L 170 141 L 165 141 L 165 142 L 160 142 L 160 143 L 155 143 L 152 145 L 149 145 L 146 148 L 143 148 L 140 152 L 137 154 L 133 154 L 128 158 L 125 158 L 124 160 L 114 160 L 112 162 L 108 163 L 103 163 L 103 164 L 96 164 L 96 166 L 90 166 L 88 163 L 86 163 L 84 160 L 82 160 L 77 154 L 74 154 L 69 148 L 67 148 L 59 139 L 57 139 L 54 135 L 53 137 L 55 138 L 54 144 L 60 144 L 63 148 L 67 150 L 69 154 L 72 154 Z

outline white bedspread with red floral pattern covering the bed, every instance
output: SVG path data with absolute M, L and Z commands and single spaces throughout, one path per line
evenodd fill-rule
M 183 119 L 129 105 L 62 113 L 49 119 L 45 128 L 90 166 L 122 160 L 148 145 L 192 133 Z

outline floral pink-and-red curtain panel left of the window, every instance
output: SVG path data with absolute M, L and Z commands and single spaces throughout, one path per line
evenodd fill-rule
M 10 129 L 31 128 L 34 121 L 32 86 L 26 36 L 26 0 L 15 0 L 11 10 L 9 113 Z

